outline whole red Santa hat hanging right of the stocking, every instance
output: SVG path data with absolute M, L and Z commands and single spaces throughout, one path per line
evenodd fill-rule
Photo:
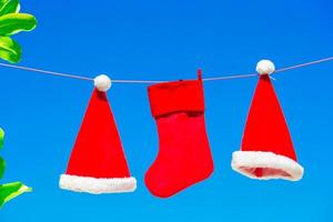
M 297 163 L 291 135 L 269 74 L 274 64 L 262 60 L 260 74 L 248 117 L 241 151 L 232 157 L 232 169 L 252 179 L 301 180 L 303 168 Z

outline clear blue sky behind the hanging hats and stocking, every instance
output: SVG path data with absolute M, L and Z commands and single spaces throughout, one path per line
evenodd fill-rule
M 113 79 L 178 80 L 249 73 L 263 58 L 278 68 L 332 56 L 331 0 L 22 0 L 38 29 L 14 37 L 20 64 Z M 92 84 L 0 69 L 3 182 L 34 191 L 0 212 L 1 222 L 333 221 L 333 62 L 276 74 L 301 182 L 254 181 L 230 168 L 256 79 L 205 83 L 206 128 L 215 171 L 179 195 L 152 196 L 143 176 L 158 151 L 147 85 L 114 84 L 108 95 L 138 190 L 89 195 L 58 189 Z M 274 133 L 274 132 L 272 132 Z M 186 175 L 184 175 L 186 176 Z

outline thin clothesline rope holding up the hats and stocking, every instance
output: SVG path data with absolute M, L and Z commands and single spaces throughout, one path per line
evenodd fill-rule
M 301 64 L 295 64 L 292 67 L 285 67 L 281 69 L 276 69 L 274 73 L 279 72 L 284 72 L 293 69 L 299 69 L 303 67 L 309 67 L 322 62 L 327 62 L 332 61 L 333 57 L 320 59 L 320 60 L 314 60 L 311 62 L 305 62 Z M 6 68 L 12 68 L 12 69 L 19 69 L 19 70 L 26 70 L 26 71 L 31 71 L 31 72 L 38 72 L 42 74 L 49 74 L 49 75 L 58 75 L 58 77 L 65 77 L 65 78 L 72 78 L 72 79 L 80 79 L 80 80 L 87 80 L 87 81 L 93 81 L 93 78 L 89 77 L 83 77 L 83 75 L 77 75 L 77 74 L 69 74 L 69 73 L 61 73 L 61 72 L 53 72 L 53 71 L 48 71 L 48 70 L 41 70 L 41 69 L 34 69 L 34 68 L 29 68 L 29 67 L 21 67 L 21 65 L 16 65 L 16 64 L 7 64 L 7 63 L 1 63 L 0 67 L 6 67 Z M 232 80 L 232 79 L 244 79 L 244 78 L 252 78 L 252 77 L 258 77 L 258 73 L 250 73 L 250 74 L 233 74 L 233 75 L 225 75 L 225 77 L 213 77 L 213 78 L 203 78 L 203 81 L 219 81 L 219 80 Z M 161 82 L 167 82 L 162 80 L 112 80 L 114 83 L 161 83 Z

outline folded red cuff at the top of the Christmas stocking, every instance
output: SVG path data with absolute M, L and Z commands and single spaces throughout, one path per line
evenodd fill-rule
M 204 111 L 201 79 L 153 84 L 148 88 L 154 118 L 182 111 Z

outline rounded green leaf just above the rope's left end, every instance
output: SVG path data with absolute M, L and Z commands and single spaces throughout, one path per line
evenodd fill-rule
M 0 58 L 9 62 L 19 62 L 21 60 L 21 47 L 9 37 L 0 37 Z M 1 139 L 0 139 L 1 147 Z

